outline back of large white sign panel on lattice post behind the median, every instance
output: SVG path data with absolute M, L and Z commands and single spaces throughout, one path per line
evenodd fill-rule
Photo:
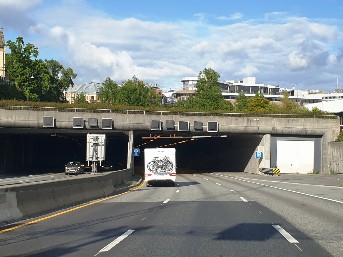
M 86 160 L 104 161 L 106 159 L 105 145 L 105 134 L 87 134 Z

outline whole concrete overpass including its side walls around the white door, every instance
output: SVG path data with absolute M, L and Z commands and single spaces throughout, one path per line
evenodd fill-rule
M 244 164 L 235 171 L 253 172 L 261 167 L 274 167 L 276 164 L 277 140 L 314 142 L 314 169 L 321 173 L 330 171 L 329 142 L 334 141 L 340 131 L 340 120 L 335 116 L 309 115 L 270 115 L 270 114 L 225 114 L 225 113 L 181 113 L 127 110 L 66 109 L 39 107 L 3 107 L 0 110 L 0 135 L 18 134 L 65 134 L 76 135 L 87 133 L 105 133 L 106 135 L 129 134 L 133 131 L 136 138 L 140 135 L 203 136 L 226 135 L 231 146 L 221 145 L 222 151 L 216 157 L 230 155 Z M 25 110 L 27 109 L 27 110 Z M 52 110 L 52 111 L 51 111 Z M 237 117 L 243 116 L 243 117 Z M 54 127 L 43 128 L 43 117 L 54 117 Z M 73 118 L 83 118 L 83 129 L 73 128 Z M 113 119 L 112 129 L 101 129 L 102 119 Z M 96 126 L 90 126 L 88 119 L 97 119 Z M 160 131 L 151 131 L 151 120 L 161 120 Z M 189 121 L 187 132 L 179 132 L 177 127 L 167 129 L 166 121 Z M 203 130 L 195 130 L 195 121 L 202 121 Z M 207 132 L 207 122 L 218 122 L 218 132 Z M 232 144 L 233 143 L 233 144 Z M 130 142 L 132 147 L 133 142 Z M 239 146 L 239 147 L 238 147 Z M 241 147 L 242 146 L 242 147 Z M 10 149 L 10 144 L 5 147 Z M 253 153 L 263 150 L 264 157 L 257 163 Z M 5 151 L 6 152 L 6 151 Z M 11 152 L 11 151 L 7 151 Z M 13 151 L 12 151 L 13 152 Z M 218 157 L 219 158 L 219 157 Z M 242 159 L 243 158 L 243 159 Z M 223 168 L 223 167 L 222 167 Z

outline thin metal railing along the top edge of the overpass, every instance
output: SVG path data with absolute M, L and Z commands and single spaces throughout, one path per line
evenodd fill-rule
M 221 113 L 221 112 L 176 112 L 176 111 L 139 111 L 139 110 L 112 110 L 112 109 L 88 109 L 88 108 L 60 108 L 60 107 L 34 107 L 34 106 L 0 106 L 2 110 L 22 111 L 57 111 L 57 112 L 92 112 L 92 113 L 117 113 L 117 114 L 153 114 L 153 115 L 176 115 L 176 116 L 211 116 L 211 117 L 261 117 L 261 118 L 310 118 L 316 119 L 339 119 L 338 115 L 316 114 L 263 114 L 263 113 Z M 1 109 L 0 109 L 1 110 Z

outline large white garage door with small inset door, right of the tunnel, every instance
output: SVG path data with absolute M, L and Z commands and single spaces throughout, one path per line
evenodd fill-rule
M 314 167 L 315 142 L 277 140 L 276 165 L 281 173 L 311 172 Z

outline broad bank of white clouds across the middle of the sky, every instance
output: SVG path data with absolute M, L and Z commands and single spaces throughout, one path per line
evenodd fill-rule
M 38 24 L 30 30 L 39 35 L 34 44 L 62 51 L 60 60 L 78 74 L 77 83 L 102 82 L 107 76 L 120 82 L 136 75 L 163 87 L 181 87 L 182 77 L 197 76 L 206 67 L 224 80 L 257 76 L 258 83 L 286 86 L 296 80 L 300 87 L 327 90 L 323 85 L 343 68 L 343 51 L 334 50 L 342 45 L 338 26 L 285 13 L 268 14 L 268 23 L 215 26 L 196 18 L 116 20 L 82 1 L 66 1 L 40 9 L 36 17 Z M 243 16 L 227 19 L 237 17 Z

